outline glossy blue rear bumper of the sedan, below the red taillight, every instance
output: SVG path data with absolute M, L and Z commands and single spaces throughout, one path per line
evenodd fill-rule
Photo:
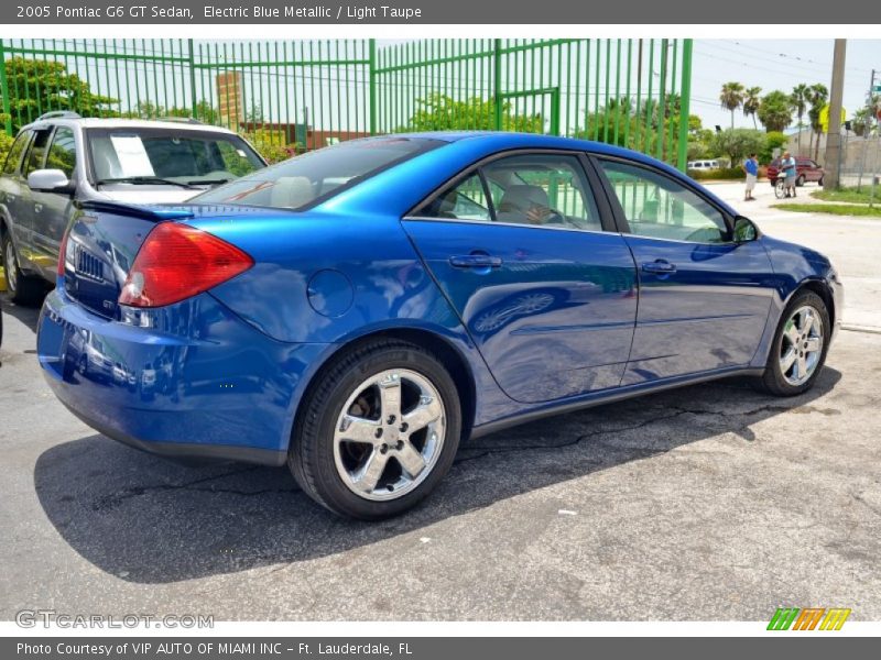
M 188 330 L 110 321 L 62 288 L 50 294 L 37 354 L 58 399 L 152 453 L 282 464 L 302 385 L 327 344 L 272 340 L 208 294 L 155 314 L 156 327 Z

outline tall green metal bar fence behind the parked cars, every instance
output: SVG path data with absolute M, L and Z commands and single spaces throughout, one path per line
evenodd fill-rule
M 685 167 L 690 40 L 0 40 L 7 133 L 44 112 L 196 118 L 262 148 L 515 130 Z

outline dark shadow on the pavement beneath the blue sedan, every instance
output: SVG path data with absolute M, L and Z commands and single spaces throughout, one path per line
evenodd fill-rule
M 839 414 L 814 403 L 840 377 L 826 367 L 809 393 L 787 399 L 720 381 L 480 438 L 460 448 L 427 501 L 381 522 L 331 515 L 286 469 L 186 468 L 97 435 L 40 455 L 34 485 L 48 519 L 86 560 L 127 581 L 170 583 L 339 554 L 708 438 L 725 448 L 725 461 L 757 440 L 758 422 L 787 411 Z

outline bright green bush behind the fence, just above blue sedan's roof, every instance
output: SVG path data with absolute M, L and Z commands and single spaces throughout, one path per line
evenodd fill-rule
M 486 131 L 496 129 L 496 102 L 480 98 L 457 101 L 443 94 L 432 94 L 416 101 L 418 109 L 403 131 Z M 502 103 L 502 130 L 543 133 L 541 113 L 515 114 L 511 103 Z

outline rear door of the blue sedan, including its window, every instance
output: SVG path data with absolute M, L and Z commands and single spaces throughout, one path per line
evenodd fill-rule
M 458 176 L 403 226 L 501 388 L 524 403 L 616 387 L 635 266 L 584 156 L 516 152 Z

